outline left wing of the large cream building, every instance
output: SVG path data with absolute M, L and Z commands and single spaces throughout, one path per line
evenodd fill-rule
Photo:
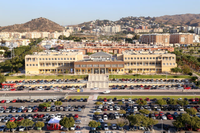
M 74 62 L 83 60 L 83 54 L 79 51 L 44 51 L 25 56 L 26 74 L 47 74 L 74 72 Z

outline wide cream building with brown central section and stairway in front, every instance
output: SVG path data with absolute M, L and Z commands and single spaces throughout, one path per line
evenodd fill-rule
M 117 57 L 105 52 L 90 56 L 80 51 L 45 51 L 25 57 L 26 74 L 167 73 L 176 67 L 175 54 L 166 51 L 124 51 Z

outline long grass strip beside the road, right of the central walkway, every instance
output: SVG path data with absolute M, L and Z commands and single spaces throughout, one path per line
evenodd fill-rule
M 132 98 L 132 99 L 134 99 L 134 98 L 143 98 L 143 99 L 145 99 L 147 97 L 150 98 L 150 99 L 153 99 L 153 98 L 161 99 L 161 98 L 168 98 L 168 97 L 177 99 L 177 98 L 196 98 L 198 96 L 98 96 L 98 99 L 99 98 L 102 98 L 102 99 L 103 98 L 107 98 L 107 99 L 112 98 L 113 99 L 115 97 L 117 99 L 122 99 L 122 98 L 125 98 L 125 99 L 128 99 L 128 98 Z

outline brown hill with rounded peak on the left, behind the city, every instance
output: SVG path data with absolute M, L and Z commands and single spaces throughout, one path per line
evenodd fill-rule
M 63 31 L 64 27 L 59 24 L 46 19 L 36 18 L 24 24 L 15 24 L 10 26 L 0 27 L 0 32 L 26 32 L 26 31 Z

